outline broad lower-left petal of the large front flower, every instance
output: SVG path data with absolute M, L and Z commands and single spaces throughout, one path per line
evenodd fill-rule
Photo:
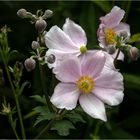
M 72 110 L 76 107 L 80 92 L 75 84 L 59 83 L 51 97 L 51 102 L 57 108 Z

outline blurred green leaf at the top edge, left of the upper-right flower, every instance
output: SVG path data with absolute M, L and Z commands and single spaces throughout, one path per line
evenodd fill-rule
M 91 1 L 94 2 L 98 7 L 100 7 L 105 13 L 109 12 L 111 9 L 109 1 L 95 1 L 95 0 Z

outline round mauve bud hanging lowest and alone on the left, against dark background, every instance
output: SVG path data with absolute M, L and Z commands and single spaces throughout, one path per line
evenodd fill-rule
M 33 58 L 27 58 L 24 65 L 27 71 L 32 71 L 36 66 L 36 61 Z

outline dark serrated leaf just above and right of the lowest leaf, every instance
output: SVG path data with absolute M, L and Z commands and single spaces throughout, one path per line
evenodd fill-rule
M 77 123 L 77 122 L 85 123 L 85 120 L 79 113 L 75 113 L 75 112 L 69 113 L 69 114 L 66 114 L 65 117 L 68 118 L 73 123 Z

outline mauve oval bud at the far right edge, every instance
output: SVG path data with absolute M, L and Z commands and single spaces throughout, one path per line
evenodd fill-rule
M 136 47 L 131 47 L 128 55 L 132 60 L 137 60 L 139 57 L 139 50 Z

